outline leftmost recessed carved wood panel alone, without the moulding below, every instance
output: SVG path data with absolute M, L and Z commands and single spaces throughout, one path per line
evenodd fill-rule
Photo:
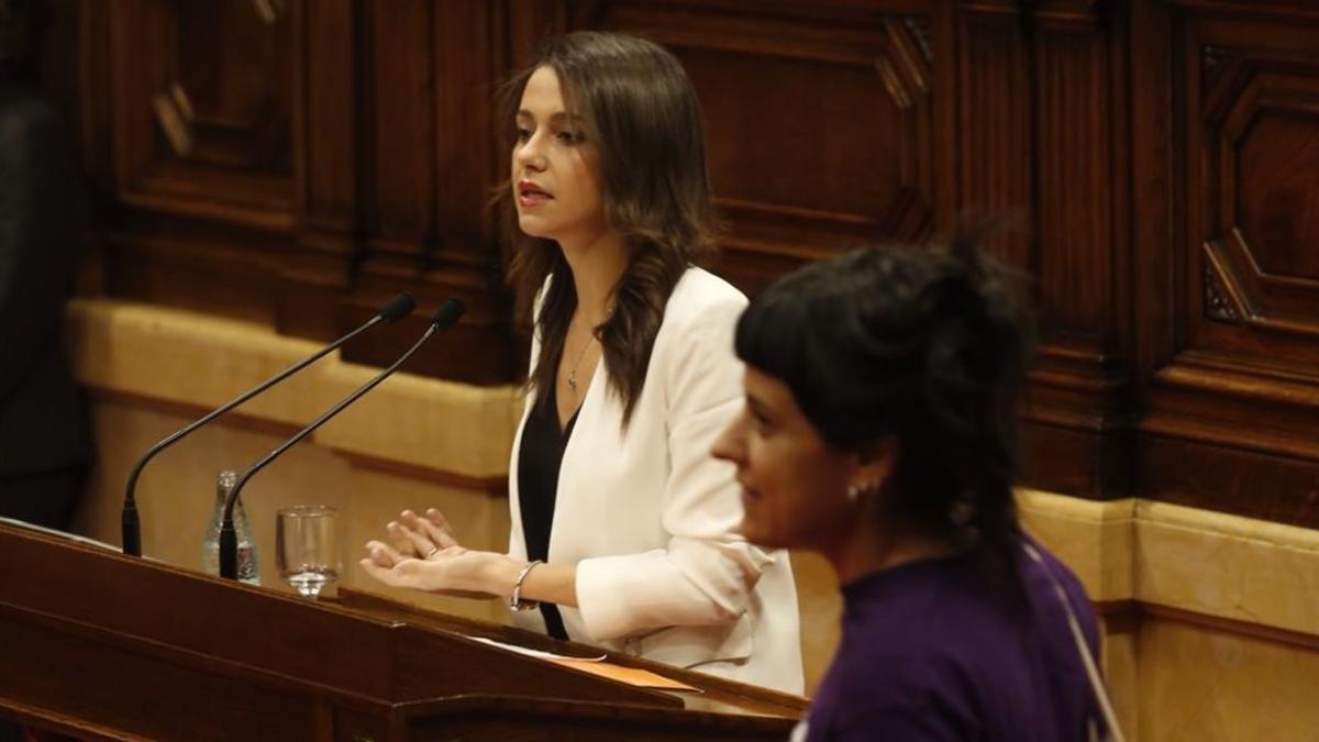
M 289 228 L 293 16 L 251 1 L 127 0 L 112 16 L 120 195 L 154 210 Z

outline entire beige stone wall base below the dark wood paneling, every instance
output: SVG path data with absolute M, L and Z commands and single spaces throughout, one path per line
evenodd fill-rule
M 141 452 L 317 347 L 260 325 L 107 300 L 75 301 L 69 327 L 100 453 L 78 528 L 109 543 Z M 215 473 L 256 459 L 375 372 L 323 359 L 162 454 L 138 489 L 146 553 L 195 566 Z M 274 511 L 293 503 L 340 508 L 343 584 L 353 588 L 388 593 L 356 560 L 404 507 L 441 507 L 470 545 L 503 549 L 508 510 L 492 483 L 506 475 L 518 409 L 512 387 L 392 378 L 245 490 L 265 585 L 285 589 Z M 1108 617 L 1103 659 L 1128 738 L 1319 739 L 1319 532 L 1138 499 L 1024 491 L 1020 507 Z M 838 643 L 836 580 L 816 556 L 793 560 L 814 688 Z M 505 618 L 492 602 L 396 597 Z

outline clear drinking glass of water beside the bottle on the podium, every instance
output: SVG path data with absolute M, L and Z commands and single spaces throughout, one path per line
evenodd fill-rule
M 274 522 L 280 577 L 306 598 L 339 578 L 339 512 L 322 504 L 286 507 Z

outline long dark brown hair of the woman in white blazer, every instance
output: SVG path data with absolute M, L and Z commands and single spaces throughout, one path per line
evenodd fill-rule
M 613 312 L 595 327 L 609 389 L 621 397 L 627 424 L 645 386 L 669 294 L 687 267 L 714 248 L 700 102 L 678 59 L 656 44 L 599 32 L 559 36 L 504 88 L 509 151 L 522 91 L 541 67 L 558 75 L 565 104 L 582 118 L 587 143 L 599 152 L 605 217 L 623 232 L 628 250 Z M 558 244 L 517 227 L 510 186 L 499 199 L 513 248 L 509 281 L 524 322 L 550 277 L 534 327 L 541 351 L 528 386 L 553 388 L 576 288 Z

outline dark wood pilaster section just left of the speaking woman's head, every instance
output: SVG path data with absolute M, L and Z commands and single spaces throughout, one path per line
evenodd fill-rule
M 417 355 L 409 364 L 415 372 L 495 384 L 524 367 L 487 203 L 506 170 L 493 99 L 513 70 L 510 15 L 526 11 L 522 21 L 536 22 L 542 5 L 454 0 L 364 9 L 365 246 L 353 292 L 336 313 L 342 327 L 352 326 L 400 288 L 423 308 L 451 296 L 463 301 L 462 323 Z M 419 312 L 344 356 L 388 364 L 427 322 Z

